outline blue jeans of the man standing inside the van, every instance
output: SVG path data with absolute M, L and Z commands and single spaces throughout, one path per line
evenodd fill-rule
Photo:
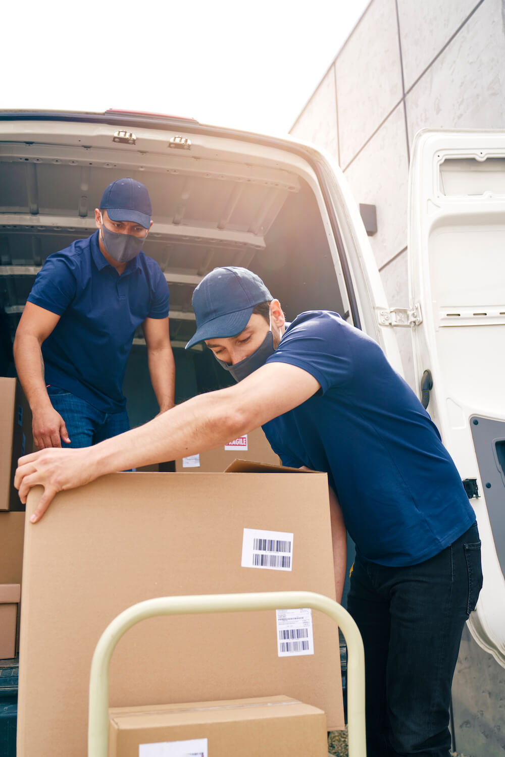
M 99 441 L 129 431 L 126 410 L 104 413 L 58 386 L 48 386 L 48 395 L 52 406 L 64 419 L 70 437 L 70 444 L 62 442 L 62 447 L 91 447 Z

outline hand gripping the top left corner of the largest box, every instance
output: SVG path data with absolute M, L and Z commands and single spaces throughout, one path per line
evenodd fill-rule
M 30 522 L 36 523 L 42 518 L 58 491 L 93 481 L 95 475 L 89 457 L 89 447 L 78 450 L 46 449 L 20 457 L 14 486 L 19 490 L 21 502 L 26 503 L 33 486 L 44 487 L 44 494 Z

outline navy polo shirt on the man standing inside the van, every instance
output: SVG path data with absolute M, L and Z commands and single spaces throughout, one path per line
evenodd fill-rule
M 98 410 L 123 410 L 126 360 L 137 326 L 168 315 L 168 285 L 143 252 L 121 276 L 98 247 L 98 231 L 49 255 L 29 302 L 61 316 L 42 344 L 45 382 Z

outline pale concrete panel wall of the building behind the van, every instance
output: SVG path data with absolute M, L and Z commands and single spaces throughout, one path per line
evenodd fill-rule
M 406 307 L 407 185 L 419 129 L 505 129 L 505 0 L 372 0 L 291 129 L 326 148 L 358 203 L 390 307 Z M 413 386 L 410 332 L 397 329 Z M 505 670 L 466 630 L 453 684 L 454 747 L 505 753 Z

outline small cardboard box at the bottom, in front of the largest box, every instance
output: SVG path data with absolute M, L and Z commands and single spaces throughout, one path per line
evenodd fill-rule
M 109 710 L 109 757 L 327 757 L 326 715 L 288 696 Z

